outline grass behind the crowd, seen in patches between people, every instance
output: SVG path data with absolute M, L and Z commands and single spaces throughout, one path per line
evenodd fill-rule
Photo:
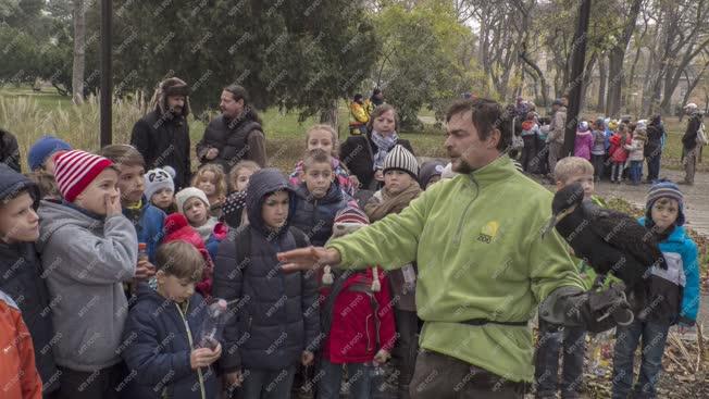
M 132 100 L 116 101 L 113 107 L 113 141 L 128 142 L 135 122 L 148 110 L 147 99 L 134 95 Z M 344 102 L 339 107 L 339 136 L 348 136 L 348 110 Z M 422 110 L 420 115 L 433 116 L 433 112 Z M 297 112 L 282 113 L 268 109 L 261 113 L 266 135 L 266 153 L 273 166 L 289 171 L 301 158 L 304 150 L 304 132 L 318 121 L 313 117 L 298 122 Z M 192 147 L 201 139 L 204 123 L 190 117 L 189 130 Z M 686 120 L 666 117 L 669 141 L 662 154 L 662 167 L 681 169 L 682 142 Z M 55 134 L 76 148 L 91 151 L 99 147 L 99 107 L 92 97 L 82 107 L 72 104 L 66 97 L 59 96 L 53 88 L 34 91 L 29 87 L 0 88 L 0 126 L 9 129 L 20 141 L 21 153 L 43 134 Z M 410 140 L 416 155 L 445 157 L 444 136 L 440 129 L 424 125 L 422 132 L 401 132 Z M 194 153 L 194 151 L 192 151 Z M 24 162 L 24 161 L 23 161 Z M 194 160 L 194 164 L 197 162 Z M 25 165 L 26 166 L 26 165 Z M 709 157 L 704 157 L 697 165 L 699 171 L 709 171 Z

